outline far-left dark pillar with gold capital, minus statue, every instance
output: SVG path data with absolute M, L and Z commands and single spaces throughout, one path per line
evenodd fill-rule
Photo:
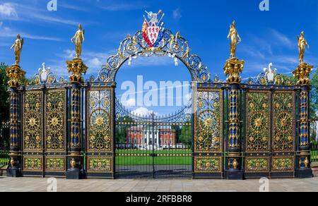
M 20 78 L 23 78 L 25 72 L 18 65 L 6 68 L 6 75 L 9 78 L 8 86 L 10 87 L 10 166 L 8 176 L 21 176 L 21 159 L 20 159 L 20 97 L 17 87 Z

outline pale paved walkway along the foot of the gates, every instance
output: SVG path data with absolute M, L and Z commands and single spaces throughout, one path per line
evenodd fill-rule
M 47 183 L 49 178 L 2 178 L 0 192 L 46 192 L 52 188 Z M 245 181 L 227 180 L 104 180 L 86 179 L 80 181 L 57 178 L 57 191 L 83 192 L 212 192 L 212 191 L 246 191 L 258 192 L 262 183 L 259 179 Z M 271 179 L 269 191 L 318 191 L 318 178 L 309 179 Z

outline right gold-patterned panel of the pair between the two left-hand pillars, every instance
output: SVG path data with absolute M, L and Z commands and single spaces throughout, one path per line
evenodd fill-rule
M 45 92 L 45 172 L 66 171 L 66 89 Z

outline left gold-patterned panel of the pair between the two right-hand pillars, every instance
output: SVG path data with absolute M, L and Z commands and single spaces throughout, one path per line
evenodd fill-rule
M 271 92 L 249 90 L 246 99 L 245 172 L 268 176 L 271 164 Z

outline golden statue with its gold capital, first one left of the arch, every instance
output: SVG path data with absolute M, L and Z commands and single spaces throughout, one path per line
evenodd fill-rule
M 81 59 L 82 53 L 82 43 L 84 41 L 85 30 L 82 30 L 81 24 L 78 25 L 78 30 L 76 34 L 71 38 L 71 42 L 75 44 L 76 57 L 71 61 L 66 61 L 67 68 L 71 75 L 69 79 L 72 83 L 81 83 L 83 82 L 82 74 L 86 73 L 88 67 Z

